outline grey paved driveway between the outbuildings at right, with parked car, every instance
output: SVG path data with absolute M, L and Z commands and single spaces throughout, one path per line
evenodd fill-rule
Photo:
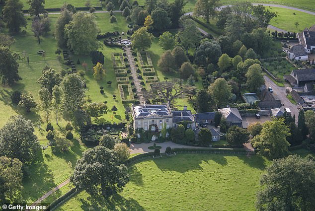
M 295 122 L 297 124 L 299 116 L 298 106 L 290 102 L 286 93 L 286 89 L 290 86 L 286 83 L 285 87 L 277 86 L 267 75 L 264 75 L 264 79 L 266 86 L 273 89 L 273 95 L 281 100 L 281 104 L 284 104 L 283 108 L 290 108 L 291 115 L 293 116 L 295 114 Z

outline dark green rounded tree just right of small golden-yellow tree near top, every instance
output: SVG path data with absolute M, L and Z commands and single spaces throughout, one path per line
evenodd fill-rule
M 167 29 L 171 25 L 167 12 L 162 8 L 156 8 L 153 10 L 151 16 L 155 30 L 161 31 L 163 29 Z

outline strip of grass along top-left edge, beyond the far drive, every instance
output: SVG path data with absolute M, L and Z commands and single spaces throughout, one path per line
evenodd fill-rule
M 21 0 L 24 7 L 23 9 L 28 9 L 29 4 L 27 0 Z M 87 0 L 45 0 L 45 8 L 60 8 L 64 3 L 70 3 L 75 7 L 85 7 Z M 101 6 L 99 0 L 90 0 L 92 6 Z

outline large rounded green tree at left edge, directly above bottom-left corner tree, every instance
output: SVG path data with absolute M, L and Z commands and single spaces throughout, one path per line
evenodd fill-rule
M 33 124 L 23 116 L 12 116 L 0 129 L 0 156 L 17 158 L 23 163 L 34 161 L 40 144 Z

